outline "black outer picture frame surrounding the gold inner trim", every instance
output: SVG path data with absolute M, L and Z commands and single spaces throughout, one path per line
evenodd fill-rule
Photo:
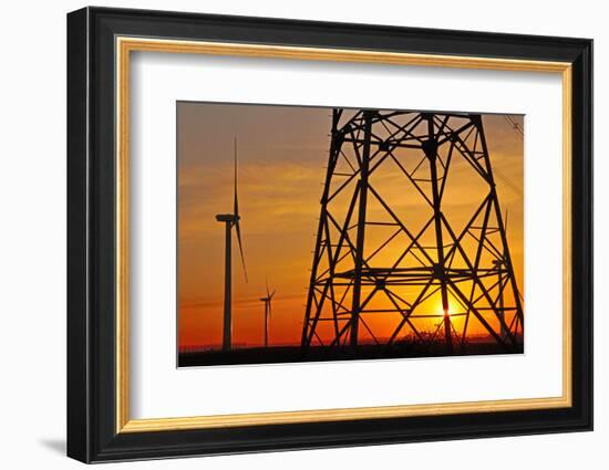
M 571 63 L 572 406 L 117 434 L 116 35 Z M 102 462 L 591 430 L 591 143 L 592 41 L 587 39 L 106 8 L 69 13 L 68 456 Z

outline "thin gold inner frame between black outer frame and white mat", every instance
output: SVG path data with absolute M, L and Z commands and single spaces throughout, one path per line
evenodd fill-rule
M 571 406 L 571 64 L 435 54 L 236 44 L 117 36 L 116 51 L 116 432 L 491 412 Z M 562 80 L 562 396 L 301 411 L 131 419 L 128 412 L 128 111 L 133 51 L 393 65 L 547 72 Z

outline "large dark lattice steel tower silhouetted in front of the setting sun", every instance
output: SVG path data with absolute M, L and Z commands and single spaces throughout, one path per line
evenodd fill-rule
M 516 351 L 523 305 L 477 114 L 332 113 L 302 328 L 353 351 L 486 336 Z

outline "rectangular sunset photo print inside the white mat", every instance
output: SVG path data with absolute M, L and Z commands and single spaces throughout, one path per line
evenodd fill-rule
M 524 116 L 177 103 L 178 366 L 524 351 Z

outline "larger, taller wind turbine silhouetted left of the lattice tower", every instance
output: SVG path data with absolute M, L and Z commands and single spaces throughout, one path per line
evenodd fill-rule
M 223 330 L 223 351 L 230 349 L 230 341 L 233 336 L 233 238 L 231 230 L 235 228 L 237 232 L 237 242 L 239 243 L 239 252 L 241 254 L 241 264 L 244 267 L 244 275 L 247 282 L 246 262 L 244 258 L 244 247 L 241 243 L 241 230 L 239 228 L 239 198 L 237 197 L 237 137 L 235 137 L 235 200 L 233 213 L 218 213 L 216 216 L 218 222 L 223 222 L 226 228 L 225 239 L 225 267 L 224 267 L 224 330 Z

